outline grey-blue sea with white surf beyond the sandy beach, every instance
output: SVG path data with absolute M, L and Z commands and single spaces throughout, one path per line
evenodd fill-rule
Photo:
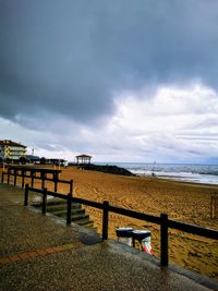
M 106 165 L 106 162 L 105 162 Z M 218 165 L 107 162 L 138 175 L 218 185 Z

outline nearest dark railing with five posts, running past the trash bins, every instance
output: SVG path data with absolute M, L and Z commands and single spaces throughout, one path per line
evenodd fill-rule
M 47 195 L 51 195 L 53 197 L 62 198 L 68 202 L 68 211 L 66 211 L 66 225 L 71 223 L 71 209 L 72 203 L 81 203 L 87 206 L 92 206 L 98 209 L 102 209 L 102 240 L 108 239 L 108 225 L 109 225 L 109 213 L 116 213 L 119 215 L 136 218 L 140 220 L 145 220 L 148 222 L 153 222 L 156 225 L 160 225 L 160 264 L 161 266 L 168 266 L 169 255 L 168 255 L 168 229 L 177 229 L 184 232 L 193 233 L 196 235 L 218 240 L 218 231 L 213 229 L 201 228 L 194 225 L 178 222 L 171 219 L 168 219 L 167 214 L 161 214 L 160 217 L 152 216 L 117 206 L 112 206 L 109 202 L 105 201 L 104 203 L 97 203 L 84 198 L 72 197 L 72 194 L 68 195 L 47 191 L 47 189 L 34 189 L 29 187 L 28 184 L 25 186 L 25 195 L 24 195 L 24 205 L 28 205 L 28 192 L 37 192 L 43 194 L 43 214 L 46 214 L 46 205 L 47 205 Z

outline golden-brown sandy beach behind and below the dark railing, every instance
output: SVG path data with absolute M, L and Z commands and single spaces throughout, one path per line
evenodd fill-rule
M 110 204 L 142 213 L 169 218 L 218 230 L 218 219 L 210 219 L 210 196 L 218 195 L 218 186 L 191 184 L 152 177 L 121 177 L 75 167 L 62 169 L 61 179 L 74 181 L 74 196 Z M 37 183 L 36 183 L 37 185 Z M 47 187 L 52 189 L 49 182 Z M 68 185 L 58 189 L 68 193 Z M 101 231 L 101 211 L 87 207 L 87 211 Z M 109 238 L 116 239 L 117 227 L 149 229 L 154 255 L 159 257 L 159 227 L 146 221 L 111 214 Z M 181 231 L 169 231 L 170 263 L 204 274 L 218 280 L 217 241 L 191 235 Z

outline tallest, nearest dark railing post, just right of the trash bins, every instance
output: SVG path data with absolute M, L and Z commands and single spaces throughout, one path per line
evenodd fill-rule
M 168 215 L 160 215 L 160 264 L 168 266 Z

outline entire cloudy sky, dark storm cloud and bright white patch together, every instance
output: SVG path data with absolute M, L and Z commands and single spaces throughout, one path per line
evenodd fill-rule
M 0 0 L 0 140 L 218 162 L 217 0 Z

